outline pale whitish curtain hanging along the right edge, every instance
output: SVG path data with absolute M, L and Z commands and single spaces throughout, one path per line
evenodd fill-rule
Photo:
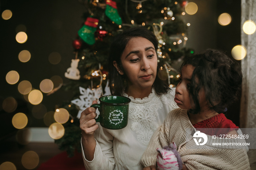
M 240 127 L 256 128 L 256 32 L 247 35 L 242 26 L 246 20 L 256 23 L 256 1 L 241 0 L 241 45 L 247 50 L 247 55 L 241 60 L 244 74 L 242 86 Z M 254 134 L 256 135 L 256 134 Z M 248 152 L 251 169 L 256 169 L 256 149 Z

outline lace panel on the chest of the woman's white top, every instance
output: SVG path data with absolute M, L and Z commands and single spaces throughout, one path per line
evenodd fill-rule
M 127 94 L 125 94 L 128 97 Z M 157 95 L 155 90 L 152 89 L 152 93 L 148 97 L 140 98 L 131 98 L 131 103 L 129 107 L 129 119 L 133 120 L 131 129 L 137 134 L 137 140 L 139 143 L 147 146 L 155 130 L 158 128 L 156 123 L 156 118 L 158 117 L 159 109 L 163 107 L 164 104 L 169 105 L 171 102 L 170 95 Z M 169 106 L 172 107 L 172 106 Z

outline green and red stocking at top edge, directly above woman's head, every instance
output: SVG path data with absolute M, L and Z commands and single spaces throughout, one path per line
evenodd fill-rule
M 116 24 L 118 25 L 122 24 L 122 19 L 117 12 L 116 2 L 112 0 L 106 0 L 106 4 L 107 4 L 106 11 L 105 11 L 106 16 L 108 16 L 108 18 L 111 19 Z

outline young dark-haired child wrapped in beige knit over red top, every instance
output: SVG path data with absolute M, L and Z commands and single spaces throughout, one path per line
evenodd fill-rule
M 238 63 L 220 51 L 209 49 L 187 58 L 180 71 L 174 98 L 180 108 L 171 111 L 152 136 L 141 160 L 144 169 L 156 169 L 157 148 L 171 142 L 177 145 L 184 163 L 182 169 L 250 169 L 247 147 L 212 144 L 245 142 L 244 139 L 212 138 L 212 135 L 241 134 L 222 113 L 237 99 L 241 89 L 242 73 Z M 204 145 L 195 143 L 198 129 L 206 134 Z

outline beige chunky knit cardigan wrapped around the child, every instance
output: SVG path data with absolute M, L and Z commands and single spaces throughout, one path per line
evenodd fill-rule
M 197 146 L 193 140 L 196 129 L 191 124 L 187 110 L 175 109 L 169 113 L 152 136 L 142 156 L 143 166 L 155 165 L 157 148 L 175 142 L 182 162 L 189 170 L 247 170 L 250 169 L 247 156 L 248 147 L 244 146 L 212 146 L 212 143 L 244 143 L 244 139 L 212 139 L 207 135 L 207 143 Z M 241 134 L 241 130 L 237 131 Z

